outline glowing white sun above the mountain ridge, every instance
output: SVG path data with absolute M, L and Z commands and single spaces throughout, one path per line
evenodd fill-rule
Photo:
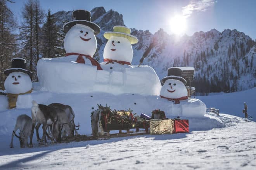
M 173 34 L 182 34 L 186 30 L 186 18 L 181 15 L 175 15 L 170 19 L 170 29 Z

